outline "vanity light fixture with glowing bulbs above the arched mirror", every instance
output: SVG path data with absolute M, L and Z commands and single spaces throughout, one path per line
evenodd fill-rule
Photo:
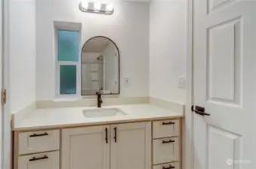
M 79 9 L 82 12 L 89 12 L 95 14 L 107 14 L 111 15 L 114 13 L 114 7 L 111 4 L 101 4 L 100 2 L 88 2 L 83 0 L 79 4 Z

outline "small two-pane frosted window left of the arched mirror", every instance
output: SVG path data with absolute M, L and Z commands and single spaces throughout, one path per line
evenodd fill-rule
M 58 95 L 78 95 L 79 32 L 57 30 Z

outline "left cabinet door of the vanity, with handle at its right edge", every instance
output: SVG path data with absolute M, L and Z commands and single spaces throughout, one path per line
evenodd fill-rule
M 109 125 L 62 130 L 62 169 L 109 169 Z

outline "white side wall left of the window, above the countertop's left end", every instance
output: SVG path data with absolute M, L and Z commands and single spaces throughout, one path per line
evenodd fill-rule
M 35 1 L 11 0 L 11 113 L 35 101 Z

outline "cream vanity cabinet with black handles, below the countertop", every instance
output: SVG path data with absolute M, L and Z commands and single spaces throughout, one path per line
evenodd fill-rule
M 181 118 L 105 124 L 14 131 L 11 169 L 182 169 Z

